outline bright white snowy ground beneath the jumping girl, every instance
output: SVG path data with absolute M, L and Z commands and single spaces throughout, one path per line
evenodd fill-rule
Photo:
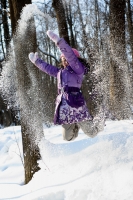
M 133 121 L 65 142 L 61 126 L 45 128 L 41 170 L 24 185 L 21 127 L 0 130 L 0 200 L 132 200 Z

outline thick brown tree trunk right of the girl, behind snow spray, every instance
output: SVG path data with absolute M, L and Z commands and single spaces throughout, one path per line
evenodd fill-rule
M 110 0 L 110 109 L 117 119 L 128 119 L 129 77 L 125 54 L 125 0 Z

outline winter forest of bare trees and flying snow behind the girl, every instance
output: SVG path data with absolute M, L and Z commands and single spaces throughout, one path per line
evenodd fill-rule
M 0 129 L 21 126 L 25 184 L 40 170 L 43 127 L 53 126 L 57 80 L 28 59 L 38 52 L 60 65 L 47 30 L 89 63 L 82 91 L 90 113 L 102 107 L 107 121 L 133 118 L 132 0 L 0 0 Z

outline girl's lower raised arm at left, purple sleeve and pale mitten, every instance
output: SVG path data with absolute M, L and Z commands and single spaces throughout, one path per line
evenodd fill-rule
M 29 59 L 41 71 L 45 72 L 46 74 L 49 74 L 50 76 L 57 77 L 57 73 L 58 73 L 59 69 L 56 66 L 50 65 L 50 64 L 46 63 L 45 61 L 41 60 L 38 57 L 37 52 L 35 54 L 30 53 Z

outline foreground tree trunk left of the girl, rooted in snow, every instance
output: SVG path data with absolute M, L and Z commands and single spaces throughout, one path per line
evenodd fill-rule
M 24 32 L 20 31 L 20 14 L 31 0 L 10 0 L 12 30 L 14 33 L 15 63 L 17 72 L 18 97 L 21 113 L 21 133 L 24 155 L 25 183 L 39 170 L 40 153 L 38 143 L 43 137 L 39 70 L 28 59 L 29 52 L 36 51 L 36 31 L 33 18 L 27 19 Z M 16 31 L 16 32 L 15 32 Z

